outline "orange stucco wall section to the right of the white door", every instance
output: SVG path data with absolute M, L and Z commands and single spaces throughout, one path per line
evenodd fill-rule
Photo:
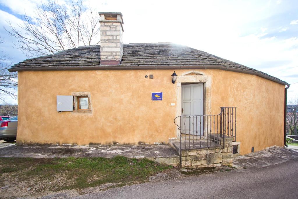
M 250 153 L 252 147 L 259 151 L 284 146 L 284 85 L 256 75 L 219 70 L 213 77 L 212 112 L 219 106 L 237 107 L 240 154 Z

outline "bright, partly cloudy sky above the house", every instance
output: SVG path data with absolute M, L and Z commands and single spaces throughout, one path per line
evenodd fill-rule
M 59 0 L 60 4 L 69 3 Z M 298 97 L 298 1 L 101 1 L 85 0 L 98 12 L 122 12 L 124 43 L 173 42 L 243 64 L 292 84 Z M 26 59 L 2 27 L 25 13 L 35 18 L 38 0 L 0 0 L 0 50 L 18 63 Z M 296 83 L 296 84 L 294 84 Z M 262 85 L 260 85 L 261 87 Z M 10 104 L 17 101 L 7 97 Z

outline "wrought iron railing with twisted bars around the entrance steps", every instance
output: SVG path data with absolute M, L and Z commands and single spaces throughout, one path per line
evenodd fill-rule
M 236 141 L 236 107 L 221 107 L 218 115 L 180 115 L 174 123 L 180 130 L 180 155 L 181 149 L 224 146 L 225 136 Z

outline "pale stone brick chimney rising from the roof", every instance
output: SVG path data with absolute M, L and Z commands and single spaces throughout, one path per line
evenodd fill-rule
M 99 12 L 100 65 L 120 65 L 123 54 L 122 13 Z

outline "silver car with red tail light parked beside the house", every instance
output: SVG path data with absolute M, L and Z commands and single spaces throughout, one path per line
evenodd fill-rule
M 0 121 L 0 139 L 13 142 L 17 138 L 18 116 Z

